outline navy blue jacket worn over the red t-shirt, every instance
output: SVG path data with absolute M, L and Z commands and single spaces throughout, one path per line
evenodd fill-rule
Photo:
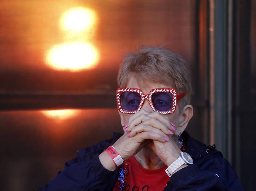
M 99 154 L 121 136 L 114 133 L 111 140 L 78 150 L 77 157 L 65 164 L 64 171 L 58 172 L 55 179 L 39 190 L 113 190 L 119 168 L 113 172 L 105 169 Z M 196 141 L 187 132 L 183 132 L 182 137 L 187 138 L 186 152 L 193 158 L 194 164 L 173 174 L 164 191 L 244 190 L 236 173 L 219 151 Z

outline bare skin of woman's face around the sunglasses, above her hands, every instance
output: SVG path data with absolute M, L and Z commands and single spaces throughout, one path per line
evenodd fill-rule
M 137 83 L 137 80 L 132 76 L 129 80 L 128 80 L 128 83 L 127 83 L 127 88 L 140 88 L 142 90 L 142 92 L 146 95 L 149 93 L 149 91 L 151 89 L 154 89 L 154 88 L 174 88 L 174 86 L 172 85 L 169 85 L 169 86 L 166 86 L 164 84 L 161 84 L 161 83 L 154 83 L 154 82 L 148 82 L 148 83 L 141 83 L 141 86 Z M 148 102 L 148 99 L 146 99 L 144 101 L 144 104 L 142 105 L 142 108 L 141 110 L 145 110 L 147 111 L 148 113 L 151 113 L 151 112 L 155 112 L 152 110 L 149 102 Z M 164 116 L 167 116 L 169 118 L 169 120 L 174 123 L 177 127 L 177 125 L 179 124 L 180 122 L 180 118 L 181 118 L 181 115 L 179 114 L 179 106 L 177 105 L 176 106 L 176 111 L 174 113 L 171 113 L 171 114 L 161 114 L 161 115 L 164 115 Z M 127 114 L 127 113 L 121 113 L 120 111 L 118 111 L 119 114 L 120 114 L 120 118 L 121 118 L 121 124 L 124 125 L 126 123 L 129 122 L 129 119 L 132 115 L 134 114 Z M 175 132 L 175 135 L 179 135 L 180 132 Z

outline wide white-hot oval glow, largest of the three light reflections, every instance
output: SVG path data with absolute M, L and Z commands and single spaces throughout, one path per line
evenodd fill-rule
M 66 43 L 54 46 L 46 56 L 46 63 L 58 70 L 85 70 L 96 66 L 99 51 L 84 42 Z

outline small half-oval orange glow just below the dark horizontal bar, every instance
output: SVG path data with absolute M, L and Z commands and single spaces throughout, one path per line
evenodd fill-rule
M 41 111 L 41 112 L 49 118 L 67 119 L 67 118 L 75 117 L 79 113 L 79 110 L 74 110 L 74 109 L 45 110 L 45 111 Z

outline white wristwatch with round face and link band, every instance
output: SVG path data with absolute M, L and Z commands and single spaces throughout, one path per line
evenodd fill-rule
M 180 152 L 180 157 L 177 158 L 168 168 L 165 170 L 166 174 L 171 177 L 182 164 L 193 164 L 193 159 L 186 152 Z

